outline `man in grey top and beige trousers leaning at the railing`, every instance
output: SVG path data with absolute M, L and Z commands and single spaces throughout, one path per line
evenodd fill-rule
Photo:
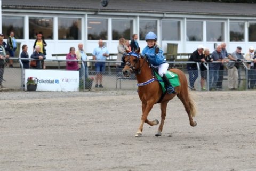
M 238 69 L 239 62 L 244 59 L 243 54 L 241 53 L 242 48 L 237 46 L 236 51 L 231 54 L 231 61 L 228 62 L 228 88 L 231 90 L 235 90 L 238 87 Z

